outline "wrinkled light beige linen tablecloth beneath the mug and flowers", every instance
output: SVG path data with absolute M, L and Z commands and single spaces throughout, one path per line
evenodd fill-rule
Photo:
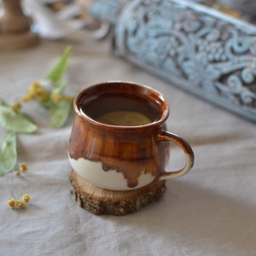
M 255 255 L 256 126 L 232 113 L 113 57 L 108 41 L 46 41 L 32 49 L 0 53 L 0 91 L 7 102 L 54 67 L 73 45 L 66 80 L 79 90 L 107 80 L 147 84 L 171 107 L 167 129 L 185 137 L 195 152 L 189 174 L 166 182 L 166 194 L 136 213 L 96 216 L 70 195 L 67 144 L 74 113 L 54 130 L 48 112 L 26 103 L 39 130 L 19 135 L 19 160 L 26 174 L 0 177 L 0 255 Z M 0 139 L 5 131 L 0 127 Z M 173 146 L 168 169 L 183 165 Z M 24 210 L 7 207 L 28 193 Z

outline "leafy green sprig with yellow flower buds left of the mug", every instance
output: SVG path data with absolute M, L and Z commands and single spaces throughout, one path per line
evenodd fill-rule
M 49 109 L 50 124 L 54 128 L 60 128 L 65 124 L 73 102 L 73 96 L 65 94 L 67 84 L 62 81 L 67 71 L 71 50 L 68 46 L 46 78 L 33 82 L 26 95 L 22 97 L 23 102 L 36 101 L 40 106 Z M 6 131 L 0 143 L 0 176 L 15 170 L 18 134 L 33 133 L 38 130 L 38 125 L 20 109 L 20 102 L 9 106 L 0 98 L 0 126 Z

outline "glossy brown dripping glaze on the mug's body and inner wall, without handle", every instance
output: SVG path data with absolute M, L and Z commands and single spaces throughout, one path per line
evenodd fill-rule
M 109 100 L 111 99 L 111 100 Z M 121 172 L 130 188 L 141 173 L 158 177 L 169 155 L 169 144 L 160 143 L 169 108 L 156 91 L 137 84 L 97 84 L 79 93 L 74 101 L 77 113 L 69 142 L 71 158 L 102 163 L 102 169 Z M 96 117 L 113 110 L 139 111 L 153 122 L 149 125 L 118 126 L 96 122 Z

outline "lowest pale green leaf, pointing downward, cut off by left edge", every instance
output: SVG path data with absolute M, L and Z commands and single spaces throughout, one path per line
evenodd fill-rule
M 0 143 L 0 176 L 13 171 L 17 161 L 16 134 L 8 132 Z

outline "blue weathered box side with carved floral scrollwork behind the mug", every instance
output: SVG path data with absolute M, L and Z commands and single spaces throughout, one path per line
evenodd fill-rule
M 256 120 L 256 28 L 193 3 L 136 0 L 114 50 L 173 84 Z

